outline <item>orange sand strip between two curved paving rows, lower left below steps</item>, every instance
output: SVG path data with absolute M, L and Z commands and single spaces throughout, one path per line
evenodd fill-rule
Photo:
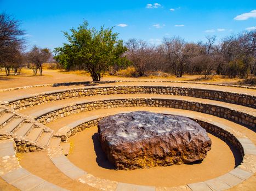
M 47 156 L 47 152 L 22 153 L 20 164 L 32 174 L 69 190 L 96 190 L 87 184 L 71 180 L 64 175 Z M 35 165 L 36 164 L 36 165 Z M 47 173 L 46 173 L 47 172 Z M 0 182 L 1 185 L 1 182 Z

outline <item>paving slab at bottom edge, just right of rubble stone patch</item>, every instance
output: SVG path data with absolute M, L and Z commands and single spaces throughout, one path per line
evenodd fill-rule
M 140 186 L 135 184 L 127 184 L 119 182 L 116 187 L 116 191 L 155 191 L 156 187 L 152 186 Z

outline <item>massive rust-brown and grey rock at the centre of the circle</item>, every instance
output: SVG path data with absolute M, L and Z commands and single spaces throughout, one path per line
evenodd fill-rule
M 117 169 L 187 164 L 206 157 L 212 141 L 187 117 L 135 111 L 103 118 L 99 140 Z

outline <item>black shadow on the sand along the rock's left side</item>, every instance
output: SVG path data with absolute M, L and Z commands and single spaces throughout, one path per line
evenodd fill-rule
M 96 163 L 104 169 L 111 169 L 111 170 L 116 169 L 115 165 L 109 162 L 109 160 L 106 157 L 106 154 L 101 148 L 101 144 L 99 141 L 99 134 L 94 133 L 94 135 L 92 136 L 92 140 L 94 145 L 94 151 L 96 153 Z

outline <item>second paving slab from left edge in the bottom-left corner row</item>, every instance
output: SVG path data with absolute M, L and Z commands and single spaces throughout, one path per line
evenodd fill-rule
M 35 175 L 30 174 L 29 176 L 25 176 L 24 178 L 13 182 L 13 186 L 19 188 L 20 190 L 30 190 L 42 184 L 44 180 Z

